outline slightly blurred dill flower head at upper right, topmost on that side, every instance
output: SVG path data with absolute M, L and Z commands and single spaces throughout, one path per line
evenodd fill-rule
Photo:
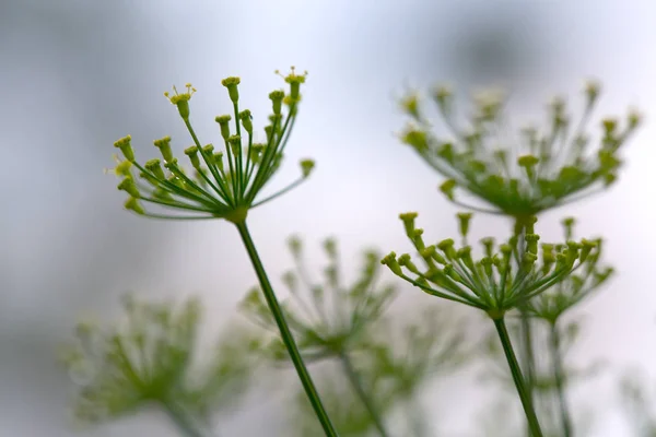
M 502 126 L 501 93 L 476 98 L 470 126 L 462 129 L 455 120 L 452 92 L 438 87 L 433 99 L 453 138 L 441 139 L 431 132 L 420 111 L 419 97 L 411 94 L 401 102 L 412 118 L 401 140 L 447 178 L 440 189 L 452 202 L 511 216 L 537 215 L 616 180 L 620 147 L 640 125 L 641 116 L 630 111 L 624 123 L 616 118 L 601 120 L 600 145 L 591 150 L 585 130 L 598 96 L 599 85 L 588 83 L 585 108 L 577 122 L 567 115 L 564 101 L 555 98 L 549 105 L 547 129 L 529 126 L 517 141 L 500 134 L 507 130 Z M 456 198 L 458 187 L 492 208 L 461 202 Z

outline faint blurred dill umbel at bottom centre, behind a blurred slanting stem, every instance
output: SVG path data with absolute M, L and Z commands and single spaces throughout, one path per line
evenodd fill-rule
M 375 403 L 378 414 L 390 417 L 400 413 L 403 417 L 389 421 L 394 424 L 391 435 L 433 434 L 425 433 L 426 416 L 418 397 L 434 378 L 461 369 L 471 356 L 462 345 L 465 326 L 461 321 L 436 306 L 413 312 L 411 320 L 380 319 L 371 347 L 353 355 L 361 387 Z M 349 375 L 333 375 L 329 370 L 320 378 L 321 394 L 340 435 L 379 435 L 356 392 L 344 383 Z M 298 397 L 298 408 L 291 418 L 294 426 L 302 424 L 295 435 L 317 435 L 318 428 L 305 399 Z

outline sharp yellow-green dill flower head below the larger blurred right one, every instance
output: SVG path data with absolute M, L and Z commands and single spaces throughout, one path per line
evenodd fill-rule
M 458 214 L 460 248 L 450 238 L 426 246 L 423 229 L 414 225 L 417 213 L 403 213 L 400 218 L 425 269 L 418 268 L 409 253 L 397 258 L 390 252 L 382 263 L 425 293 L 479 308 L 495 320 L 562 281 L 598 250 L 595 241 L 586 239 L 539 247 L 534 216 L 523 220 L 522 235 L 499 247 L 493 238 L 483 238 L 483 257 L 475 260 L 467 245 L 470 213 Z

